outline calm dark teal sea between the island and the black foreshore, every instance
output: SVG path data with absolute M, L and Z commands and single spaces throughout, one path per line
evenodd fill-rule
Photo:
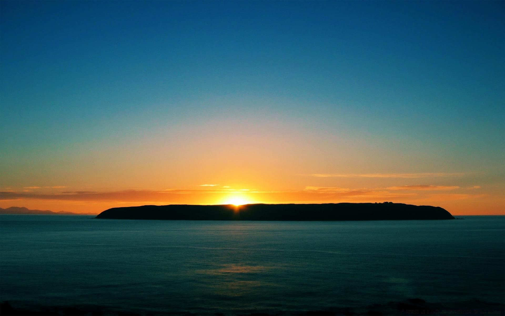
M 503 306 L 505 217 L 464 218 L 236 222 L 0 215 L 0 300 L 197 314 L 409 298 Z

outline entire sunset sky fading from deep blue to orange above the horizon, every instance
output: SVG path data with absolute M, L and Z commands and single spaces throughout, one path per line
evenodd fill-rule
M 0 206 L 505 214 L 505 2 L 0 2 Z

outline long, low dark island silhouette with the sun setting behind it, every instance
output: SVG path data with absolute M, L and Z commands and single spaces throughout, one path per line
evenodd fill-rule
M 143 205 L 115 207 L 96 218 L 169 220 L 455 219 L 441 207 L 402 203 Z

